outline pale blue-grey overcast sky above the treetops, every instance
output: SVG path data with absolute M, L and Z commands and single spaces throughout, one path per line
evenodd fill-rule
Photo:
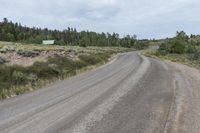
M 51 29 L 117 32 L 138 38 L 200 34 L 200 0 L 0 0 L 0 18 Z

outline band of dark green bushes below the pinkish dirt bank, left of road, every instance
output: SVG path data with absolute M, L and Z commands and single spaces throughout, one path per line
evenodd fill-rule
M 35 62 L 29 67 L 0 65 L 0 99 L 5 97 L 5 90 L 27 84 L 34 86 L 39 80 L 51 80 L 75 75 L 76 70 L 105 62 L 109 57 L 110 54 L 81 55 L 79 60 L 73 61 L 56 56 L 49 58 L 47 62 Z M 20 93 L 23 93 L 23 91 L 18 91 L 18 94 Z

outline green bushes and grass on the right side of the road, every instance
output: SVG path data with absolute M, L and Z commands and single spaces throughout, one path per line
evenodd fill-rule
M 176 37 L 162 42 L 158 50 L 148 51 L 145 55 L 200 68 L 200 36 L 189 37 L 184 31 L 177 32 Z

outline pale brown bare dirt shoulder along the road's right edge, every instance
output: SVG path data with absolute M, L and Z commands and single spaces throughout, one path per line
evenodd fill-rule
M 200 71 L 170 62 L 174 68 L 175 98 L 166 133 L 200 132 Z

